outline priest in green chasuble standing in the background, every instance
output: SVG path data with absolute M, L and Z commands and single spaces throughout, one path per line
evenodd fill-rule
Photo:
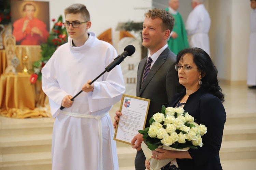
M 179 0 L 169 0 L 169 8 L 166 8 L 166 11 L 171 13 L 175 19 L 174 27 L 168 40 L 168 46 L 176 55 L 181 50 L 189 47 L 184 22 L 181 14 L 177 12 L 179 5 Z

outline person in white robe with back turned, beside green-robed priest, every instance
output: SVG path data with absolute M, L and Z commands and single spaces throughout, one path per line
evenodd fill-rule
M 189 45 L 203 49 L 210 55 L 210 42 L 208 32 L 211 19 L 202 0 L 192 0 L 193 11 L 190 12 L 186 22 L 187 35 L 190 37 Z

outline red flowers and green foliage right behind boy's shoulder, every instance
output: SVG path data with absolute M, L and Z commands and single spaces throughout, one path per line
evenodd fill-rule
M 55 19 L 52 19 L 55 22 Z M 55 50 L 62 44 L 67 43 L 67 31 L 62 27 L 62 16 L 54 23 L 50 36 L 47 39 L 47 43 L 41 45 L 41 59 L 33 63 L 34 74 L 30 77 L 30 83 L 34 84 L 37 80 L 42 80 L 41 70 L 47 61 L 51 58 Z

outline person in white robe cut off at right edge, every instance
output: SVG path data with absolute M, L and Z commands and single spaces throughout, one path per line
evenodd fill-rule
M 256 0 L 251 0 L 251 35 L 248 54 L 247 85 L 256 88 Z

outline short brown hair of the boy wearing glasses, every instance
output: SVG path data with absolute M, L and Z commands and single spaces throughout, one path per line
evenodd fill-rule
M 64 10 L 65 16 L 67 14 L 82 14 L 83 18 L 85 21 L 90 20 L 90 14 L 89 11 L 87 10 L 86 6 L 81 3 L 75 3 L 73 5 L 70 5 Z

